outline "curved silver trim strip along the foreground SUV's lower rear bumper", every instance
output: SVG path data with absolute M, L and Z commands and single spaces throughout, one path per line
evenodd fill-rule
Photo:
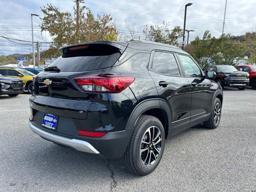
M 56 142 L 58 144 L 62 144 L 65 146 L 72 147 L 78 151 L 87 152 L 87 153 L 94 153 L 99 154 L 98 152 L 90 143 L 78 139 L 69 139 L 66 137 L 54 135 L 51 133 L 48 133 L 44 130 L 41 130 L 34 126 L 31 122 L 28 123 L 30 129 L 35 132 L 36 134 L 40 135 L 42 138 L 45 138 L 47 140 L 50 140 L 52 142 Z

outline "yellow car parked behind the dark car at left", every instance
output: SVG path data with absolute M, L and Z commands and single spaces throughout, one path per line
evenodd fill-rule
M 0 74 L 3 76 L 20 78 L 25 83 L 25 90 L 30 94 L 33 93 L 33 76 L 35 75 L 32 72 L 29 72 L 24 69 L 18 69 L 13 67 L 0 67 Z

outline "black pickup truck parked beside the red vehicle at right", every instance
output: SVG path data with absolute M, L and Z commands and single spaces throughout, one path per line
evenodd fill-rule
M 237 87 L 239 90 L 245 90 L 249 84 L 249 74 L 247 72 L 238 71 L 234 66 L 230 65 L 210 65 L 206 70 L 216 72 L 213 79 L 220 84 L 222 88 L 226 86 Z

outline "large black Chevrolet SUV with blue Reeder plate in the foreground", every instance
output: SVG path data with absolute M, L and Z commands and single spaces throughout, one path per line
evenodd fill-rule
M 146 175 L 165 139 L 201 122 L 216 128 L 223 93 L 180 48 L 130 40 L 65 46 L 34 79 L 30 129 L 46 140 Z

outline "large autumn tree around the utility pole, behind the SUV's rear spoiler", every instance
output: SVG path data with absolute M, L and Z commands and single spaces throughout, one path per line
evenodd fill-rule
M 76 7 L 78 10 L 74 7 L 74 14 L 60 12 L 52 4 L 41 8 L 44 14 L 44 17 L 40 18 L 41 32 L 48 31 L 52 36 L 52 43 L 44 52 L 45 58 L 58 56 L 57 50 L 61 46 L 98 40 L 117 40 L 116 26 L 110 14 L 94 16 L 86 6 Z

